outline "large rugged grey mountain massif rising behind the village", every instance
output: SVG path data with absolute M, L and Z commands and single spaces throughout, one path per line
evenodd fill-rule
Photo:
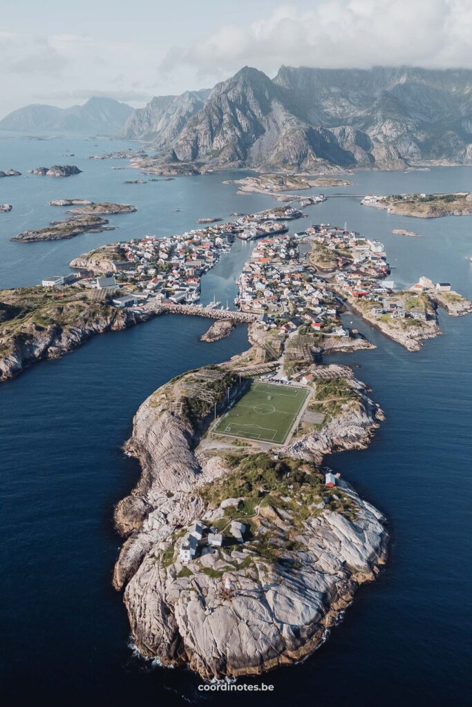
M 245 66 L 211 92 L 154 98 L 123 136 L 166 160 L 313 170 L 472 164 L 472 71 Z

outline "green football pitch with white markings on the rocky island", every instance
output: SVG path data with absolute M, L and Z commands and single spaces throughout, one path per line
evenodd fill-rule
M 305 388 L 254 381 L 246 395 L 223 415 L 214 432 L 283 444 L 308 395 Z

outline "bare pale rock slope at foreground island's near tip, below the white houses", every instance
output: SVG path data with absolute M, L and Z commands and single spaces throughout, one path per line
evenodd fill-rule
M 312 653 L 386 557 L 384 519 L 343 490 L 356 503 L 356 521 L 326 510 L 306 523 L 304 549 L 284 561 L 255 556 L 247 571 L 236 571 L 234 551 L 217 568 L 204 556 L 200 571 L 192 566 L 191 576 L 179 576 L 178 564 L 169 571 L 146 556 L 125 591 L 139 650 L 164 665 L 188 663 L 206 679 L 260 674 Z M 231 598 L 221 590 L 225 580 L 237 587 Z

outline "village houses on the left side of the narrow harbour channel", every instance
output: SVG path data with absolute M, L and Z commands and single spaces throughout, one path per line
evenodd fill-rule
M 104 246 L 81 266 L 71 263 L 79 274 L 47 277 L 42 286 L 61 286 L 81 281 L 104 293 L 113 293 L 118 307 L 132 307 L 152 298 L 154 305 L 166 300 L 173 304 L 194 304 L 200 300 L 200 279 L 231 250 L 234 238 L 256 240 L 265 235 L 287 232 L 284 221 L 304 214 L 292 206 L 277 207 L 262 214 L 236 216 L 229 223 L 212 223 L 181 235 L 157 238 L 154 235 L 126 243 Z M 96 258 L 93 256 L 96 255 Z M 99 273 L 103 276 L 94 277 Z M 125 293 L 120 296 L 120 289 Z M 224 305 L 216 300 L 211 308 Z M 229 308 L 226 303 L 226 308 Z

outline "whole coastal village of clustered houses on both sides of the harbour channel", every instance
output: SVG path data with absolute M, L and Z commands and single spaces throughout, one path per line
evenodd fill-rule
M 277 206 L 258 214 L 234 214 L 228 223 L 208 223 L 181 235 L 133 238 L 74 259 L 71 266 L 78 274 L 46 278 L 42 285 L 80 282 L 95 290 L 98 299 L 111 297 L 117 308 L 159 312 L 184 305 L 183 313 L 229 312 L 233 303 L 216 298 L 200 306 L 200 282 L 240 238 L 257 244 L 236 282 L 234 305 L 258 315 L 266 330 L 311 332 L 318 334 L 320 345 L 323 337 L 352 339 L 357 330 L 344 327 L 339 317 L 348 303 L 384 334 L 417 350 L 421 339 L 439 333 L 437 306 L 451 315 L 471 311 L 472 305 L 451 284 L 434 284 L 425 276 L 407 291 L 397 290 L 379 240 L 330 224 L 288 235 L 287 222 L 301 216 L 293 206 Z

